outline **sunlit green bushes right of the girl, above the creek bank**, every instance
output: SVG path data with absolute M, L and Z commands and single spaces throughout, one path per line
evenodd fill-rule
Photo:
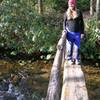
M 85 58 L 100 59 L 100 30 L 96 29 L 96 20 L 86 20 L 86 39 L 81 52 Z

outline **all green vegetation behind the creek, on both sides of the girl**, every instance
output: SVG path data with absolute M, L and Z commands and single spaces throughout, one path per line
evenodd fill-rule
M 78 8 L 89 11 L 90 0 L 78 0 Z M 29 57 L 55 54 L 56 45 L 63 30 L 63 14 L 66 0 L 43 0 L 42 14 L 37 0 L 0 1 L 0 55 Z M 89 12 L 88 12 L 89 13 Z M 85 41 L 82 57 L 100 59 L 100 31 L 96 30 L 95 18 L 85 19 Z M 17 56 L 18 57 L 18 56 Z

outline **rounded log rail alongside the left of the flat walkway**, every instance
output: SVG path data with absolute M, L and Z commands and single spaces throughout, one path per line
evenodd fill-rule
M 50 81 L 47 90 L 46 100 L 60 100 L 60 69 L 63 57 L 63 47 L 66 39 L 66 33 L 62 32 L 62 36 L 57 45 L 57 52 L 51 69 Z

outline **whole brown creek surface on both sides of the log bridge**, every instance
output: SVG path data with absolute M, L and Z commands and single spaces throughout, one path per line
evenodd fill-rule
M 45 100 L 53 61 L 0 60 L 0 100 Z M 82 68 L 90 100 L 100 100 L 100 67 Z

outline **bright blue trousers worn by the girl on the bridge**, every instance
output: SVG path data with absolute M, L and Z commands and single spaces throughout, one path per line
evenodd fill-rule
M 67 32 L 67 59 L 79 60 L 80 32 Z

